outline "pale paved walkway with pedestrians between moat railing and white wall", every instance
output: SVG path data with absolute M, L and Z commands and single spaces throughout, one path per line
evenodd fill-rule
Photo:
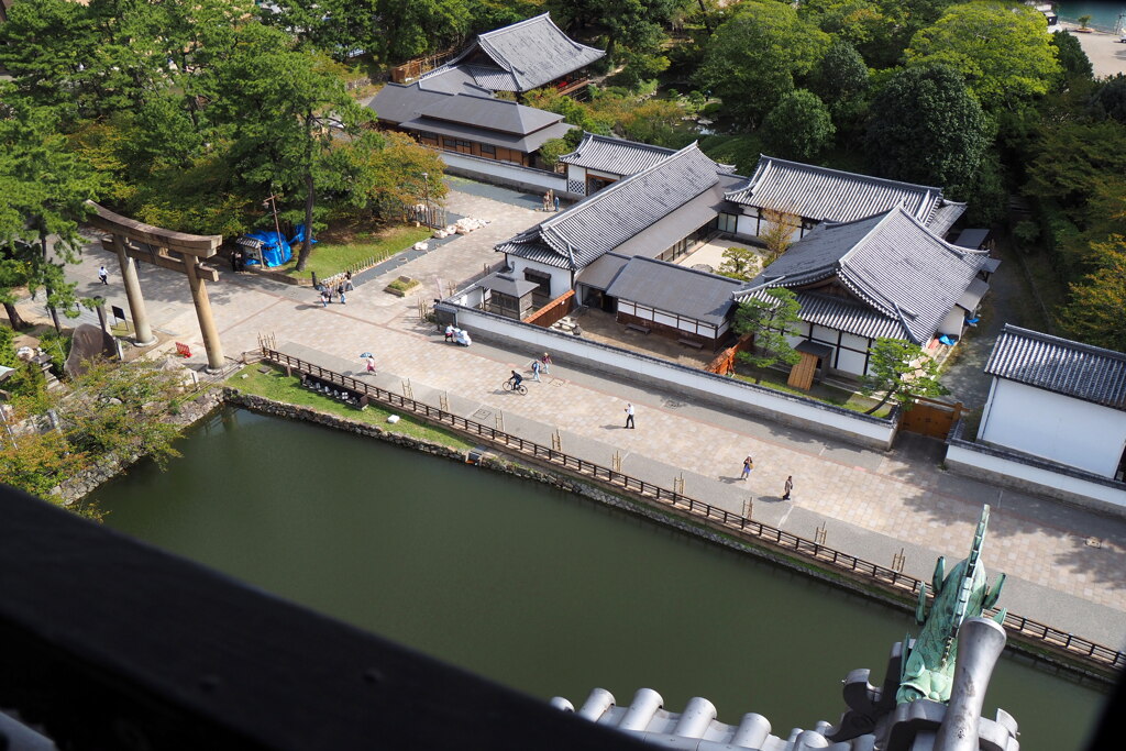
M 689 495 L 740 512 L 752 501 L 756 519 L 806 537 L 824 525 L 830 546 L 876 563 L 891 565 L 903 548 L 905 571 L 928 580 L 937 555 L 965 555 L 988 502 L 994 511 L 985 563 L 1010 574 L 1001 605 L 1109 646 L 1126 645 L 1126 521 L 953 475 L 940 468 L 936 441 L 905 436 L 894 452 L 858 448 L 685 403 L 565 361 L 543 383 L 529 382 L 527 396 L 503 392 L 501 381 L 528 364 L 530 350 L 446 345 L 418 320 L 417 298 L 382 289 L 408 274 L 423 280 L 420 298 L 443 295 L 449 284 L 499 260 L 492 245 L 543 214 L 466 193 L 453 194 L 448 207 L 491 224 L 360 284 L 347 305 L 322 309 L 307 288 L 222 271 L 209 290 L 226 354 L 254 349 L 259 333 L 272 333 L 283 348 L 359 375 L 357 356 L 372 350 L 379 367 L 374 382 L 385 388 L 397 391 L 409 379 L 414 397 L 434 404 L 447 392 L 454 411 L 483 422 L 500 417 L 510 432 L 545 444 L 558 429 L 568 453 L 601 464 L 620 453 L 624 472 L 665 486 L 683 474 Z M 105 294 L 124 306 L 116 275 L 109 288 L 98 284 L 97 268 L 107 260 L 108 253 L 92 248 L 68 274 L 80 281 L 80 294 Z M 153 325 L 189 343 L 190 363 L 202 367 L 184 278 L 151 267 L 141 276 Z M 26 313 L 33 307 L 29 301 L 21 305 Z M 636 430 L 623 429 L 626 400 L 637 405 Z M 740 482 L 747 454 L 756 470 Z M 795 480 L 793 502 L 779 499 L 787 474 Z M 1099 546 L 1088 545 L 1089 537 Z

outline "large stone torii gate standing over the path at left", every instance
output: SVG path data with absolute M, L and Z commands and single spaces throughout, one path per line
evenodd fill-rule
M 196 318 L 199 320 L 199 332 L 204 337 L 204 348 L 207 350 L 207 370 L 221 369 L 223 345 L 218 340 L 215 319 L 212 318 L 206 285 L 207 280 L 218 281 L 218 271 L 200 263 L 200 259 L 215 256 L 223 243 L 223 236 L 163 230 L 115 214 L 92 200 L 88 200 L 87 204 L 92 208 L 92 213 L 86 220 L 87 223 L 109 233 L 110 236 L 101 241 L 101 247 L 117 253 L 117 260 L 120 262 L 125 296 L 133 314 L 136 343 L 143 347 L 157 341 L 152 336 L 149 313 L 145 310 L 144 297 L 141 296 L 141 281 L 137 279 L 135 261 L 144 261 L 160 268 L 180 271 L 188 277 L 191 302 L 195 303 Z

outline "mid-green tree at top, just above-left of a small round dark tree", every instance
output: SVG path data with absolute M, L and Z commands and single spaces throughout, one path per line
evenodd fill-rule
M 813 70 L 829 35 L 787 5 L 751 0 L 735 7 L 708 43 L 696 81 L 723 100 L 723 111 L 756 126 Z

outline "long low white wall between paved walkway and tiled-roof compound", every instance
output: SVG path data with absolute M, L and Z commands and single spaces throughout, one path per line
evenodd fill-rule
M 578 358 L 597 360 L 607 367 L 633 373 L 647 381 L 667 382 L 677 391 L 685 388 L 703 394 L 743 402 L 765 410 L 789 414 L 799 420 L 825 426 L 840 432 L 850 433 L 865 442 L 878 442 L 890 447 L 895 436 L 895 424 L 886 420 L 873 420 L 860 414 L 822 409 L 814 403 L 775 395 L 769 390 L 757 388 L 734 378 L 725 378 L 709 373 L 688 370 L 656 358 L 645 357 L 616 348 L 599 347 L 581 337 L 568 337 L 548 329 L 522 325 L 517 321 L 486 315 L 480 311 L 461 309 L 458 324 L 474 331 L 491 331 L 502 337 L 519 340 L 533 349 L 551 351 L 556 360 L 572 355 Z

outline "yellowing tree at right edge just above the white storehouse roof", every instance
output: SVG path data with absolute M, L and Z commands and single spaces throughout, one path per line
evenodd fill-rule
M 1126 352 L 1126 235 L 1092 243 L 1096 269 L 1071 285 L 1060 322 L 1067 336 Z

